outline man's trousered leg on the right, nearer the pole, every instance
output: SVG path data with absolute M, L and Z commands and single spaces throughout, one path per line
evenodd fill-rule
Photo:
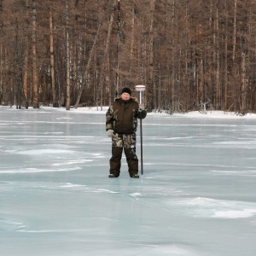
M 128 164 L 130 177 L 138 173 L 138 159 L 136 154 L 136 134 L 124 135 L 125 157 Z

